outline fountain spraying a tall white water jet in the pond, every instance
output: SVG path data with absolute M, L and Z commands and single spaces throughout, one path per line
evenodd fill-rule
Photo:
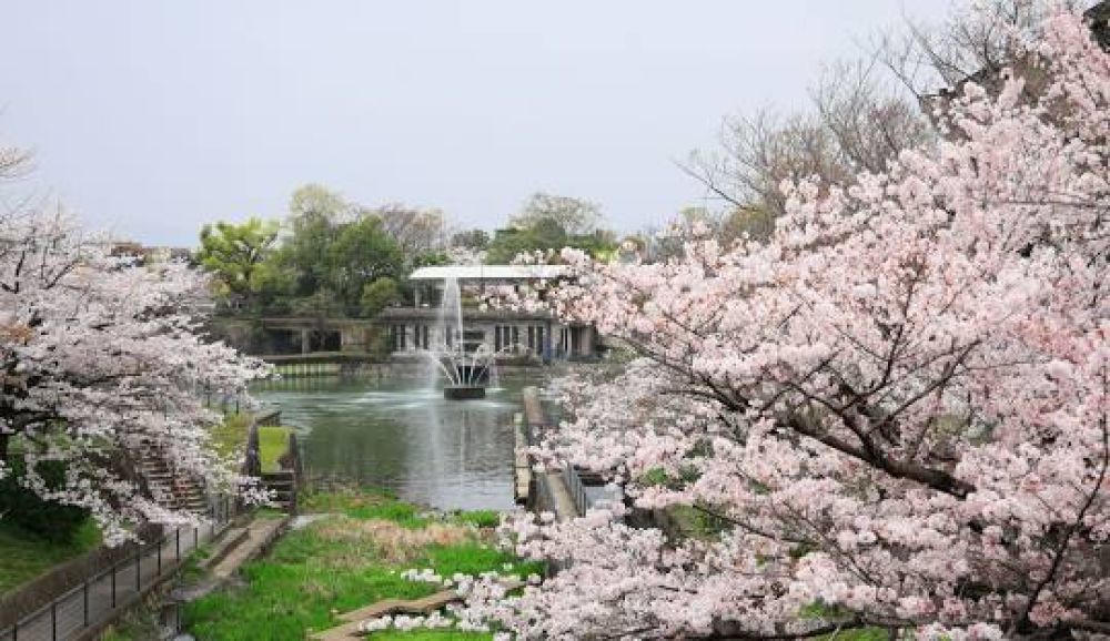
M 431 369 L 430 385 L 435 385 L 438 372 L 446 379 L 443 397 L 448 400 L 485 398 L 486 385 L 495 367 L 496 354 L 463 328 L 463 302 L 458 281 L 447 278 L 443 283 L 443 301 L 440 303 L 438 336 L 443 343 L 424 354 L 435 364 Z

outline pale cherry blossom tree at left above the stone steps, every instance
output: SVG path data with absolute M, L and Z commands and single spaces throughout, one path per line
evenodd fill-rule
M 21 485 L 88 509 L 110 542 L 195 519 L 152 499 L 143 457 L 238 490 L 231 461 L 208 447 L 220 416 L 203 395 L 240 395 L 264 369 L 203 338 L 206 291 L 185 265 L 111 256 L 64 214 L 0 217 L 0 475 L 21 458 Z M 41 461 L 64 467 L 62 487 Z

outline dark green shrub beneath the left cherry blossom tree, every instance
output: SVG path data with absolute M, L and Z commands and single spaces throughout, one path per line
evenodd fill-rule
M 72 543 L 88 521 L 88 511 L 42 500 L 20 482 L 27 474 L 22 457 L 14 456 L 7 462 L 11 471 L 0 479 L 0 517 L 3 522 L 50 543 Z M 64 487 L 65 468 L 60 461 L 42 460 L 34 469 L 48 488 L 57 490 Z

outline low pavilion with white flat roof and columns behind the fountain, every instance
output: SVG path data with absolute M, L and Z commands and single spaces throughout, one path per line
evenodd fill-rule
M 532 356 L 544 362 L 596 358 L 601 345 L 591 325 L 567 325 L 546 312 L 486 309 L 480 305 L 482 294 L 493 293 L 495 287 L 519 291 L 525 285 L 564 276 L 565 269 L 559 265 L 422 267 L 408 276 L 415 305 L 390 307 L 382 312 L 377 323 L 387 328 L 391 349 L 398 355 L 444 345 L 454 347 L 456 340 L 462 340 L 467 352 L 484 345 L 505 357 Z M 442 305 L 452 282 L 462 292 L 461 337 L 457 332 L 444 332 Z

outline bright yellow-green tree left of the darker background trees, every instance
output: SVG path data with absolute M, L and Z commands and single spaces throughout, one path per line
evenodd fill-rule
M 196 258 L 224 294 L 242 296 L 250 307 L 260 288 L 255 273 L 276 241 L 276 223 L 254 217 L 238 225 L 221 221 L 202 227 Z

